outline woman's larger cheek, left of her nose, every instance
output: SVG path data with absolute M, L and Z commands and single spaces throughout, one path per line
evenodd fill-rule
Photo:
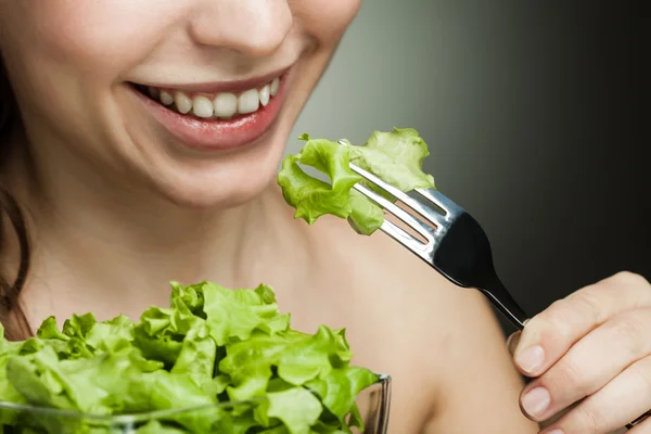
M 140 62 L 179 16 L 175 1 L 20 0 L 10 8 L 12 43 L 36 58 L 106 75 Z M 4 23 L 3 23 L 4 25 Z M 138 43 L 133 43 L 138 41 Z M 13 47 L 10 47 L 12 49 Z

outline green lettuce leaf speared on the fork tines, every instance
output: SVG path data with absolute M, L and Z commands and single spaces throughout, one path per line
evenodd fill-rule
M 339 143 L 311 139 L 308 135 L 299 139 L 306 143 L 301 152 L 283 159 L 278 183 L 288 204 L 296 208 L 294 217 L 303 218 L 309 225 L 331 214 L 347 219 L 353 229 L 361 234 L 369 235 L 382 226 L 382 209 L 353 190 L 353 186 L 362 182 L 387 199 L 393 197 L 362 180 L 350 169 L 349 163 L 404 192 L 435 187 L 434 178 L 422 170 L 422 162 L 430 151 L 412 128 L 374 131 L 361 146 L 345 140 Z M 321 171 L 330 182 L 306 174 L 301 165 Z

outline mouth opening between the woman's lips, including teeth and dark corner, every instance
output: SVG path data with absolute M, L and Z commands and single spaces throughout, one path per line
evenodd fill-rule
M 140 93 L 178 114 L 204 120 L 230 120 L 266 107 L 278 94 L 281 77 L 240 92 L 188 92 L 131 84 Z

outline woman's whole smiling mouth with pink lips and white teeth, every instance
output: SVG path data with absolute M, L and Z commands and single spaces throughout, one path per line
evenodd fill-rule
M 277 125 L 291 75 L 285 68 L 231 81 L 127 86 L 174 143 L 215 152 L 266 143 L 258 139 Z

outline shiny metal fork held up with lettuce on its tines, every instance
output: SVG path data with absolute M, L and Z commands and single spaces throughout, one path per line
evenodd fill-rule
M 350 169 L 435 226 L 433 228 L 368 187 L 356 183 L 355 190 L 400 219 L 426 242 L 423 243 L 386 219 L 380 228 L 384 233 L 403 244 L 456 285 L 480 290 L 513 326 L 519 330 L 524 329 L 528 317 L 500 282 L 495 271 L 488 237 L 470 214 L 435 189 L 416 189 L 414 195 L 418 195 L 416 199 L 355 164 L 350 164 Z M 443 213 L 433 209 L 432 205 L 441 208 Z M 651 411 L 627 424 L 626 427 L 631 429 L 650 416 Z

